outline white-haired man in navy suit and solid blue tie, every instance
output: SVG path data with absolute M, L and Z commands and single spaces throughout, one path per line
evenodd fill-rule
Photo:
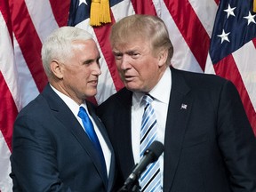
M 92 35 L 79 28 L 58 28 L 46 38 L 42 59 L 49 84 L 14 124 L 13 191 L 111 191 L 113 148 L 92 103 L 85 101 L 97 93 L 101 73 Z M 79 108 L 91 119 L 102 161 Z

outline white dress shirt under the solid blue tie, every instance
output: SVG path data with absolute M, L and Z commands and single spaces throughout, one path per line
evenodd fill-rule
M 52 87 L 52 90 L 54 92 L 56 92 L 60 96 L 61 100 L 63 100 L 67 104 L 68 108 L 72 111 L 74 116 L 76 116 L 77 121 L 84 128 L 84 124 L 82 122 L 82 119 L 79 116 L 77 116 L 80 106 L 77 105 L 77 103 L 74 100 L 72 100 L 71 98 L 69 98 L 67 95 L 65 95 L 62 92 L 59 92 L 58 90 L 56 90 L 52 85 L 51 85 L 51 87 Z M 86 103 L 84 102 L 81 106 L 83 106 L 85 108 L 88 116 L 90 117 L 90 119 L 92 121 L 94 130 L 95 130 L 95 132 L 97 134 L 97 137 L 98 137 L 98 139 L 100 141 L 100 146 L 102 148 L 102 152 L 103 152 L 103 155 L 104 155 L 104 158 L 105 158 L 107 173 L 109 173 L 110 162 L 111 162 L 111 151 L 108 148 L 108 145 L 107 145 L 106 141 L 104 140 L 103 136 L 101 135 L 100 130 L 99 130 L 97 124 L 95 124 L 92 116 L 90 116 Z M 85 130 L 84 130 L 84 132 L 85 132 Z

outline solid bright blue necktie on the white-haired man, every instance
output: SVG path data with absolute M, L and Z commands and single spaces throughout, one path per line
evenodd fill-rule
M 86 110 L 84 107 L 80 107 L 79 108 L 79 112 L 78 112 L 78 115 L 81 119 L 82 119 L 82 122 L 84 124 L 84 129 L 85 129 L 85 132 L 87 133 L 89 139 L 92 141 L 94 147 L 96 148 L 96 150 L 98 151 L 99 153 L 99 157 L 100 157 L 100 163 L 101 163 L 101 167 L 102 167 L 102 171 L 105 175 L 105 179 L 108 179 L 108 174 L 107 174 L 107 168 L 106 168 L 106 163 L 105 163 L 105 158 L 104 158 L 104 155 L 103 155 L 103 152 L 102 152 L 102 149 L 101 149 L 101 146 L 100 146 L 100 141 L 97 137 L 97 134 L 94 130 L 94 127 L 93 127 L 93 124 L 92 124 L 92 121 L 91 119 L 89 118 Z

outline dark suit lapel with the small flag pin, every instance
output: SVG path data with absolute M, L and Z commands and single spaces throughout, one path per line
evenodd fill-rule
M 170 191 L 180 159 L 188 116 L 192 108 L 189 90 L 180 73 L 172 68 L 172 91 L 164 139 L 164 191 Z

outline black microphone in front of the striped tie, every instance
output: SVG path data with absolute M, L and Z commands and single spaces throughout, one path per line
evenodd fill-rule
M 159 141 L 154 141 L 145 150 L 143 157 L 140 160 L 139 164 L 136 164 L 135 168 L 133 169 L 132 173 L 129 177 L 125 180 L 124 186 L 132 185 L 132 183 L 140 178 L 140 174 L 144 172 L 148 166 L 148 164 L 156 162 L 159 156 L 164 151 L 164 145 Z

